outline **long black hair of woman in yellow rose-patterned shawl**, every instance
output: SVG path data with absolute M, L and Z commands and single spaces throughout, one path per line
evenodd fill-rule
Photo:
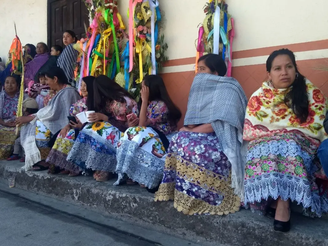
M 267 72 L 271 72 L 272 62 L 278 55 L 288 55 L 295 67 L 296 77 L 291 85 L 291 90 L 285 95 L 284 102 L 290 107 L 301 123 L 304 123 L 309 116 L 309 96 L 306 88 L 306 78 L 298 72 L 295 55 L 293 51 L 281 49 L 273 51 L 267 62 Z

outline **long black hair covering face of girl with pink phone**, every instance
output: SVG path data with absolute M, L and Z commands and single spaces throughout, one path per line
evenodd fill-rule
M 89 94 L 89 92 L 88 92 Z M 93 106 L 96 112 L 102 111 L 106 102 L 118 101 L 125 102 L 124 96 L 130 97 L 134 100 L 133 96 L 123 89 L 120 85 L 115 83 L 112 79 L 106 75 L 99 75 L 93 82 Z

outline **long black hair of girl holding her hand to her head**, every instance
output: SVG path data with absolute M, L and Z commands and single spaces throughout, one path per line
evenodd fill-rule
M 181 118 L 180 110 L 172 102 L 163 79 L 158 75 L 144 77 L 145 86 L 149 87 L 149 101 L 163 101 L 168 108 L 168 121 L 176 124 Z

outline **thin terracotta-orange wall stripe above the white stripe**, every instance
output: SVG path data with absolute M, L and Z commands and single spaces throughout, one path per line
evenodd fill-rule
M 304 43 L 297 43 L 297 44 L 287 44 L 287 45 L 264 47 L 264 48 L 258 48 L 258 49 L 252 49 L 252 50 L 234 51 L 232 53 L 232 59 L 270 55 L 270 53 L 272 51 L 279 50 L 282 48 L 287 48 L 293 52 L 323 50 L 323 49 L 328 49 L 328 39 L 304 42 Z M 163 64 L 163 67 L 189 65 L 189 64 L 194 64 L 195 61 L 196 61 L 196 57 L 187 57 L 187 58 L 181 58 L 181 59 L 168 60 Z

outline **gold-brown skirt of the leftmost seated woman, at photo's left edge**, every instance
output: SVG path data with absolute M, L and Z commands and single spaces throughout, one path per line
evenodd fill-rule
M 16 135 L 16 127 L 0 126 L 0 160 L 7 159 L 10 156 L 18 136 Z

